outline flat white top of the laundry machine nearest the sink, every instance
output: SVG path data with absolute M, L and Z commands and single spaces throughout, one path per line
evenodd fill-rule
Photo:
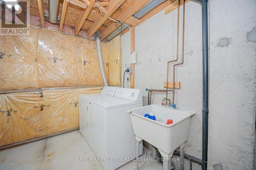
M 103 98 L 92 99 L 91 102 L 104 109 L 113 109 L 142 103 L 142 101 L 134 102 L 131 100 L 116 98 L 113 96 L 104 96 Z

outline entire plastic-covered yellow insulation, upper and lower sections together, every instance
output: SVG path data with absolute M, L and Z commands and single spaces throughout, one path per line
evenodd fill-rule
M 112 46 L 116 43 L 120 40 Z M 110 85 L 118 86 L 120 50 L 109 50 L 109 43 L 101 43 L 101 48 L 105 75 L 111 77 Z M 99 93 L 101 87 L 74 86 L 102 84 L 95 41 L 34 27 L 29 36 L 0 36 L 0 91 L 42 88 L 42 94 L 0 94 L 0 148 L 77 129 L 78 95 Z

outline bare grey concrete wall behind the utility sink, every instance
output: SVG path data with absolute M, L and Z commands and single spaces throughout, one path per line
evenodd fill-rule
M 255 11 L 253 0 L 209 1 L 209 169 L 253 169 Z M 187 3 L 185 20 L 185 59 L 177 67 L 181 89 L 176 90 L 175 103 L 197 113 L 191 118 L 185 152 L 202 158 L 201 6 Z M 176 27 L 177 10 L 167 15 L 163 10 L 135 29 L 135 88 L 143 90 L 145 105 L 146 87 L 163 89 L 166 62 L 176 56 Z M 181 38 L 180 34 L 180 46 Z M 130 65 L 130 32 L 121 37 L 121 44 L 123 74 Z M 126 82 L 125 77 L 125 86 Z M 163 98 L 164 94 L 154 93 L 153 103 L 161 104 Z M 201 167 L 193 164 L 193 169 Z

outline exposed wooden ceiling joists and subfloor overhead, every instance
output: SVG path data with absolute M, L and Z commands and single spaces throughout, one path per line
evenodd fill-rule
M 152 0 L 60 0 L 58 17 L 60 18 L 59 30 L 63 26 L 73 27 L 77 35 L 80 30 L 87 31 L 88 37 L 100 31 L 103 40 L 122 23 L 131 27 L 138 26 L 141 22 L 150 18 L 165 8 L 169 13 L 177 8 L 177 0 L 166 0 L 142 18 L 133 15 Z M 190 0 L 186 0 L 186 3 Z M 101 14 L 98 6 L 101 7 Z M 182 5 L 182 4 L 181 4 Z M 31 15 L 39 16 L 41 27 L 45 27 L 45 14 L 48 14 L 48 0 L 30 0 Z M 117 20 L 113 21 L 113 20 Z M 129 28 L 123 32 L 127 32 Z

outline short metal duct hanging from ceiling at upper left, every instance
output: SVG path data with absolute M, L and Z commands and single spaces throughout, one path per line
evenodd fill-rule
M 59 12 L 59 0 L 49 0 L 49 15 L 45 15 L 45 20 L 51 23 L 59 23 L 58 12 Z

